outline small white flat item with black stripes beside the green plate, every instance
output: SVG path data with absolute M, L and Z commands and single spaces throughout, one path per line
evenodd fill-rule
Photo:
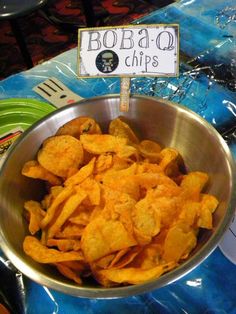
M 55 105 L 57 108 L 64 107 L 83 98 L 72 92 L 61 81 L 55 77 L 50 77 L 46 81 L 33 88 L 37 94 Z

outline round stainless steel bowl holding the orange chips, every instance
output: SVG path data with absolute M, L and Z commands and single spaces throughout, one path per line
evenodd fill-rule
M 95 118 L 104 130 L 109 121 L 125 116 L 140 138 L 155 139 L 165 146 L 177 148 L 189 170 L 206 171 L 210 175 L 209 192 L 220 200 L 214 214 L 214 228 L 200 233 L 191 257 L 177 269 L 145 284 L 101 288 L 87 283 L 78 286 L 60 276 L 51 266 L 41 265 L 26 256 L 22 242 L 27 226 L 22 218 L 23 203 L 40 199 L 42 185 L 21 175 L 25 161 L 33 159 L 43 140 L 59 126 L 79 116 Z M 230 150 L 216 130 L 195 113 L 162 99 L 133 96 L 128 113 L 119 112 L 119 96 L 98 97 L 56 110 L 29 128 L 12 147 L 0 175 L 0 239 L 7 257 L 22 273 L 52 289 L 89 298 L 127 297 L 167 285 L 199 265 L 217 246 L 227 230 L 235 206 L 234 161 Z

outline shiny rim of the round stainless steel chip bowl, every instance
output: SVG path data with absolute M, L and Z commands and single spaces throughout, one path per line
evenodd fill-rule
M 59 109 L 56 109 L 52 113 L 49 113 L 36 123 L 34 123 L 32 126 L 30 126 L 20 137 L 19 139 L 12 145 L 12 147 L 9 149 L 7 153 L 7 158 L 5 162 L 2 165 L 2 168 L 0 169 L 0 180 L 2 178 L 2 172 L 4 171 L 4 168 L 7 164 L 7 160 L 10 158 L 11 154 L 14 153 L 14 151 L 17 149 L 18 145 L 27 137 L 27 135 L 34 129 L 36 129 L 39 125 L 44 123 L 45 121 L 49 120 L 51 117 L 57 115 L 60 112 L 71 110 L 71 108 L 82 104 L 87 104 L 89 101 L 93 100 L 99 100 L 99 99 L 107 99 L 107 98 L 119 98 L 119 94 L 110 94 L 105 96 L 96 96 L 89 99 L 83 99 L 79 102 L 76 102 L 72 105 L 69 105 L 67 107 L 62 107 Z M 236 205 L 236 195 L 234 195 L 233 187 L 235 185 L 236 181 L 236 171 L 235 171 L 235 163 L 233 160 L 233 157 L 231 155 L 231 152 L 229 150 L 228 145 L 223 140 L 221 135 L 216 131 L 216 129 L 208 123 L 204 118 L 202 118 L 200 115 L 195 113 L 194 111 L 190 110 L 189 108 L 186 108 L 183 105 L 180 105 L 178 103 L 173 103 L 171 101 L 158 98 L 158 97 L 151 97 L 151 96 L 143 96 L 143 95 L 132 95 L 132 99 L 135 98 L 141 98 L 141 99 L 150 99 L 152 101 L 162 102 L 165 105 L 168 105 L 170 107 L 178 107 L 183 113 L 187 113 L 188 116 L 190 116 L 192 119 L 197 120 L 201 124 L 204 125 L 204 127 L 209 128 L 210 133 L 213 134 L 214 137 L 217 138 L 217 140 L 222 145 L 224 152 L 226 154 L 226 158 L 229 164 L 229 168 L 231 170 L 231 178 L 232 178 L 232 189 L 231 189 L 231 199 L 229 202 L 229 208 L 227 211 L 227 214 L 225 215 L 221 225 L 216 229 L 213 236 L 195 253 L 195 255 L 185 261 L 183 264 L 181 264 L 176 269 L 172 270 L 169 273 L 166 273 L 162 275 L 158 279 L 154 279 L 152 281 L 139 284 L 139 285 L 131 285 L 131 286 L 124 286 L 124 287 L 113 287 L 113 288 L 94 288 L 94 287 L 86 287 L 86 286 L 77 286 L 75 284 L 70 283 L 64 283 L 59 280 L 55 280 L 50 278 L 47 275 L 41 274 L 39 271 L 35 270 L 33 267 L 29 266 L 24 259 L 19 258 L 14 251 L 10 250 L 7 241 L 5 239 L 4 234 L 2 233 L 2 230 L 0 230 L 0 245 L 5 253 L 5 255 L 11 260 L 12 264 L 19 269 L 23 274 L 25 274 L 27 277 L 32 279 L 33 281 L 45 285 L 49 288 L 52 288 L 54 290 L 79 296 L 79 297 L 85 297 L 85 298 L 100 298 L 100 299 L 107 299 L 107 298 L 117 298 L 117 297 L 127 297 L 137 294 L 146 293 L 148 291 L 151 291 L 153 289 L 161 288 L 167 284 L 170 284 L 181 277 L 185 276 L 187 273 L 192 271 L 195 267 L 197 267 L 203 260 L 205 260 L 212 251 L 216 248 L 218 245 L 220 239 L 222 238 L 222 235 L 226 232 L 227 228 L 230 225 L 230 222 L 234 215 L 234 208 Z

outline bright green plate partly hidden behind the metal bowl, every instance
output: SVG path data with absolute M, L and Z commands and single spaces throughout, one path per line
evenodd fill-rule
M 53 105 L 35 99 L 0 100 L 0 135 L 14 128 L 26 130 L 55 109 Z

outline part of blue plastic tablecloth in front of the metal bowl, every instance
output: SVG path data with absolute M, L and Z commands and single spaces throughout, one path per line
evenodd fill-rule
M 236 267 L 216 249 L 166 287 L 133 297 L 84 299 L 48 289 L 0 255 L 1 301 L 14 314 L 235 314 Z

